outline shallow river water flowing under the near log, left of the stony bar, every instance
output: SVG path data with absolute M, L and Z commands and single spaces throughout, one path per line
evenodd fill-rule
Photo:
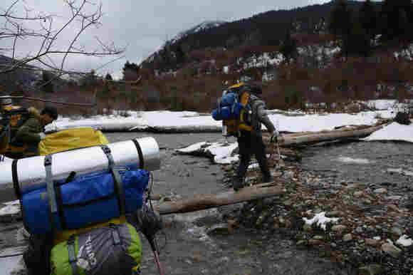
M 219 133 L 152 134 L 108 133 L 110 142 L 152 136 L 160 145 L 161 169 L 155 171 L 155 194 L 187 199 L 226 190 L 224 173 L 207 158 L 175 155 L 174 149 L 196 142 L 223 140 Z M 232 140 L 231 140 L 232 141 Z M 229 206 L 226 208 L 231 209 Z M 208 209 L 162 216 L 167 222 L 160 237 L 164 274 L 348 274 L 310 251 L 277 234 L 264 236 L 253 229 L 209 236 L 206 230 L 221 222 L 222 211 Z M 159 274 L 145 238 L 142 274 Z

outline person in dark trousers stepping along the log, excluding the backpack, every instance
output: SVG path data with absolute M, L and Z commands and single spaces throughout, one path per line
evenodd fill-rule
M 263 142 L 263 137 L 261 134 L 261 124 L 265 125 L 268 132 L 271 133 L 271 141 L 277 139 L 278 132 L 274 127 L 271 120 L 269 120 L 268 115 L 265 110 L 265 103 L 261 99 L 262 89 L 258 85 L 246 86 L 248 88 L 250 95 L 250 104 L 252 109 L 251 123 L 253 125 L 253 130 L 250 131 L 240 131 L 239 137 L 237 137 L 238 147 L 239 147 L 239 166 L 236 171 L 236 176 L 232 180 L 232 186 L 234 190 L 237 191 L 244 187 L 244 177 L 246 170 L 249 167 L 249 162 L 251 160 L 251 155 L 255 155 L 258 165 L 263 174 L 263 182 L 271 182 L 271 172 L 268 169 L 268 160 L 266 157 L 266 145 Z

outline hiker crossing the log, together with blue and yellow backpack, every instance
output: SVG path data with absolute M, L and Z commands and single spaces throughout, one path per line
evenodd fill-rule
M 271 182 L 268 169 L 266 145 L 263 142 L 261 124 L 271 133 L 270 142 L 278 141 L 278 131 L 274 127 L 265 110 L 265 102 L 261 98 L 262 88 L 259 85 L 239 83 L 228 88 L 219 101 L 218 108 L 212 111 L 215 120 L 223 120 L 223 135 L 237 138 L 239 147 L 239 166 L 233 177 L 232 186 L 235 191 L 244 187 L 244 177 L 249 167 L 251 155 L 255 155 L 263 174 L 263 182 Z

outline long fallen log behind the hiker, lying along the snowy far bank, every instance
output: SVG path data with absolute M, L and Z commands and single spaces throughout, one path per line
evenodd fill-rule
M 384 125 L 378 125 L 356 130 L 335 130 L 307 133 L 305 135 L 281 135 L 281 137 L 278 138 L 278 142 L 280 146 L 292 146 L 348 138 L 362 138 L 367 137 L 367 135 L 370 135 L 377 130 L 380 130 L 383 126 Z M 264 140 L 266 140 L 266 142 L 269 142 L 269 137 L 264 137 Z

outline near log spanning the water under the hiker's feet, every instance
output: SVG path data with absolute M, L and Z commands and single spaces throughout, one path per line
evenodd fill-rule
M 164 202 L 154 206 L 154 208 L 160 214 L 194 212 L 228 204 L 236 204 L 237 202 L 273 197 L 284 192 L 286 192 L 286 189 L 280 184 L 280 181 L 277 181 L 245 187 L 237 192 L 229 190 L 219 194 L 199 194 L 193 199 Z

